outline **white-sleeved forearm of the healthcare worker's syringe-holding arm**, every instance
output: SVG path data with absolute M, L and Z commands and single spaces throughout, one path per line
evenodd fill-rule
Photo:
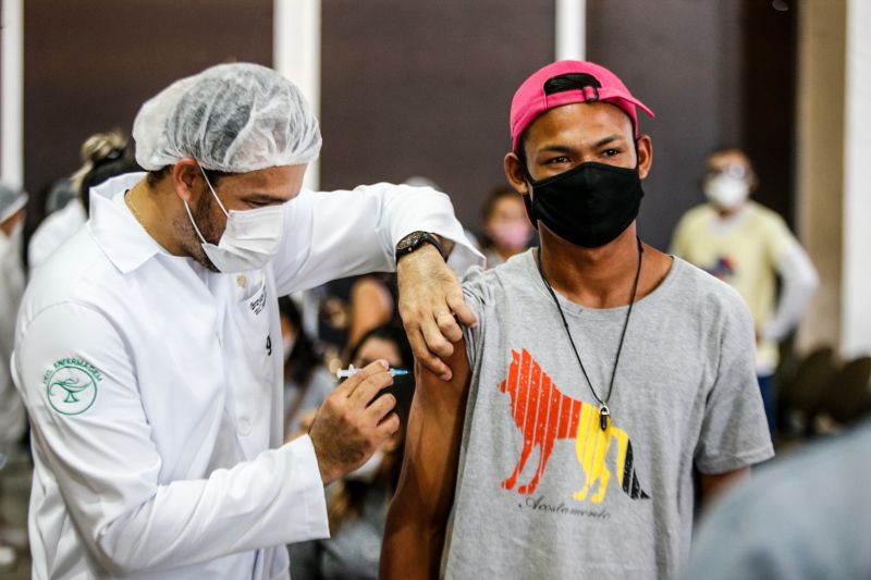
M 106 523 L 94 514 L 76 520 L 97 559 L 121 575 L 324 538 L 323 490 L 310 454 L 310 443 L 298 441 L 205 480 L 161 485 Z

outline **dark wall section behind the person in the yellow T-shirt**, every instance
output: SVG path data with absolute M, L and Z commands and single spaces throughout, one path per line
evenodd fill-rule
M 795 3 L 795 2 L 793 2 Z M 792 220 L 795 8 L 759 0 L 588 0 L 587 58 L 612 69 L 657 114 L 639 231 L 667 248 L 680 215 L 704 199 L 708 153 L 745 148 L 755 197 Z

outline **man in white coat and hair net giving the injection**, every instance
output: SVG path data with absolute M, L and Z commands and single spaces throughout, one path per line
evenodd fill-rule
M 86 226 L 36 272 L 13 374 L 33 424 L 34 578 L 289 577 L 284 544 L 329 535 L 323 485 L 398 429 L 375 362 L 282 437 L 278 297 L 391 270 L 421 362 L 473 323 L 451 260 L 481 261 L 444 194 L 302 189 L 318 122 L 254 64 L 147 101 L 147 173 L 103 183 Z M 451 242 L 453 240 L 453 243 Z

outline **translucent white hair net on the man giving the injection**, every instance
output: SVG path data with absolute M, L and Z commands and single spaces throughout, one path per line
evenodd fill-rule
M 157 171 L 183 157 L 245 173 L 318 158 L 320 129 L 303 94 L 257 64 L 219 64 L 148 100 L 133 123 L 136 161 Z

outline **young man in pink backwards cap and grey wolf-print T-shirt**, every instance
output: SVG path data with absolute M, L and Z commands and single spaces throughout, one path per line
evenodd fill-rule
M 636 237 L 636 107 L 588 62 L 515 94 L 505 172 L 541 248 L 473 270 L 452 380 L 419 369 L 383 577 L 436 577 L 453 510 L 447 578 L 666 578 L 697 492 L 773 455 L 740 297 Z

